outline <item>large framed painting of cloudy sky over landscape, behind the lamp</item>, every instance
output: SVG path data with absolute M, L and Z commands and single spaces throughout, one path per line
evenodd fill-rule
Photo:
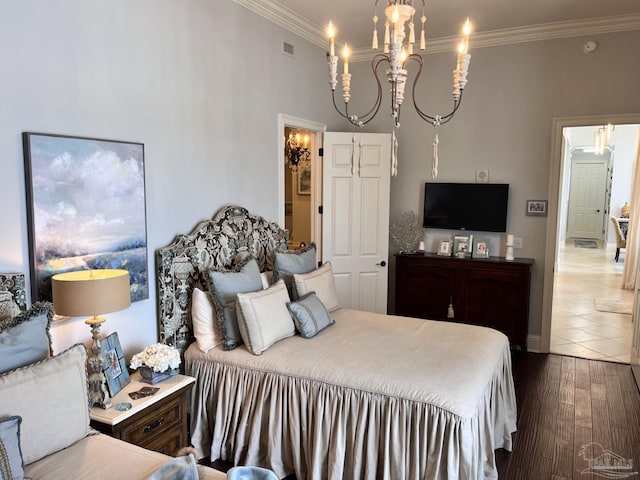
M 23 132 L 31 301 L 51 277 L 129 271 L 131 301 L 149 298 L 144 144 Z

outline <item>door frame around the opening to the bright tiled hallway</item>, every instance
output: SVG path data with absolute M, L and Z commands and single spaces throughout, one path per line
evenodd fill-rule
M 544 284 L 542 290 L 542 325 L 539 351 L 549 353 L 551 347 L 551 313 L 553 303 L 553 276 L 558 255 L 560 236 L 559 199 L 563 194 L 562 171 L 564 169 L 563 130 L 569 127 L 585 127 L 606 124 L 640 124 L 640 113 L 591 115 L 585 117 L 554 118 L 551 130 L 551 158 L 549 161 L 548 217 L 545 241 Z

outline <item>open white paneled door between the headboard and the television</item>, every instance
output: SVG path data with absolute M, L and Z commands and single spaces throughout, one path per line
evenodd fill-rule
M 325 132 L 322 260 L 340 306 L 387 312 L 391 135 Z

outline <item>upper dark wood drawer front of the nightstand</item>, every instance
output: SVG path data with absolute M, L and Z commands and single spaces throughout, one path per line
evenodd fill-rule
M 120 438 L 144 447 L 156 436 L 162 435 L 169 430 L 177 428 L 180 431 L 183 423 L 186 422 L 186 419 L 182 416 L 181 400 L 181 397 L 175 397 L 158 408 L 149 408 L 149 412 L 146 415 L 122 428 Z

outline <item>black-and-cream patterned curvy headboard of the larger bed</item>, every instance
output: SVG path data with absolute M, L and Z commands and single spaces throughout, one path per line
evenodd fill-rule
M 183 352 L 193 341 L 191 294 L 209 290 L 207 271 L 232 267 L 246 256 L 260 271 L 273 269 L 273 253 L 287 249 L 288 233 L 277 223 L 238 206 L 223 207 L 191 233 L 156 251 L 159 341 Z

